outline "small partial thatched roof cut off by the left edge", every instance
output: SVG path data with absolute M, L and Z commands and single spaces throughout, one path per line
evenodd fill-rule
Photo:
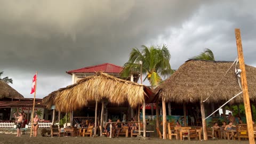
M 0 80 L 0 99 L 3 98 L 24 98 L 19 92 L 14 90 L 9 84 L 6 84 L 4 81 Z

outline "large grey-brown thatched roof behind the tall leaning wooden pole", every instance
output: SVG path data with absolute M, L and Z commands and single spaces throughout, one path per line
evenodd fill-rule
M 201 98 L 205 100 L 232 63 L 230 61 L 188 60 L 159 85 L 155 93 L 159 99 L 163 98 L 166 102 L 198 102 Z M 239 69 L 239 63 L 236 68 Z M 256 68 L 246 65 L 245 69 L 250 99 L 255 101 Z M 235 74 L 235 65 L 233 65 L 206 102 L 227 101 L 241 91 Z M 243 102 L 243 94 L 230 102 Z

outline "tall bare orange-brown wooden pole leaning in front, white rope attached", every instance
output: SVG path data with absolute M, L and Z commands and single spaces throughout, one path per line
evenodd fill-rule
M 247 87 L 246 72 L 245 72 L 245 66 L 244 66 L 244 54 L 243 54 L 240 29 L 235 29 L 235 35 L 236 35 L 236 46 L 237 46 L 239 67 L 242 70 L 241 82 L 242 82 L 242 88 L 243 88 L 244 109 L 245 109 L 245 115 L 246 115 L 249 142 L 254 144 L 255 141 L 254 141 L 254 134 L 253 134 L 252 115 L 251 115 L 250 100 L 249 100 L 249 93 L 248 93 L 248 87 Z

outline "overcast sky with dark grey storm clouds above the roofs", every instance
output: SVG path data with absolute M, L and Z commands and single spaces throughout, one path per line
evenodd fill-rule
M 0 71 L 25 98 L 38 71 L 37 98 L 71 84 L 66 71 L 123 66 L 132 47 L 166 44 L 171 67 L 207 47 L 216 60 L 256 67 L 256 1 L 0 1 Z M 147 82 L 145 82 L 147 84 Z

